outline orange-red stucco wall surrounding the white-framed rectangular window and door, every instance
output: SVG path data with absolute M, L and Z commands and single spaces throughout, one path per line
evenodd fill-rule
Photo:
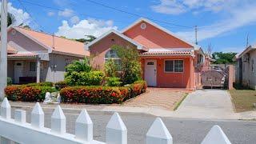
M 192 57 L 143 57 L 142 70 L 145 71 L 145 59 L 157 59 L 157 86 L 179 87 L 194 89 L 194 67 Z M 164 71 L 165 60 L 183 60 L 184 70 L 182 73 L 166 73 Z M 143 75 L 145 78 L 145 76 Z

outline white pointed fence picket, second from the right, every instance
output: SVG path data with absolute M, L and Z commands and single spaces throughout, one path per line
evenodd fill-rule
M 156 118 L 146 133 L 146 144 L 172 144 L 173 138 L 162 122 L 161 118 Z

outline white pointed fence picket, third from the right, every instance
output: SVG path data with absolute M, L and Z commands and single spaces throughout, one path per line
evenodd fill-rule
M 127 129 L 118 113 L 114 113 L 106 125 L 107 144 L 127 144 Z

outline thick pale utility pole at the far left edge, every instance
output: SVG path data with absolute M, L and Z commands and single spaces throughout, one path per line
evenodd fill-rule
M 0 99 L 5 97 L 7 86 L 7 0 L 1 6 L 1 50 L 0 50 Z

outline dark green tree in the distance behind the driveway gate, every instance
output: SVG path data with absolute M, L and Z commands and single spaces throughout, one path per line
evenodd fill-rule
M 233 62 L 233 58 L 237 53 L 223 53 L 223 52 L 214 52 L 212 54 L 213 59 L 215 59 L 214 64 L 231 64 Z

